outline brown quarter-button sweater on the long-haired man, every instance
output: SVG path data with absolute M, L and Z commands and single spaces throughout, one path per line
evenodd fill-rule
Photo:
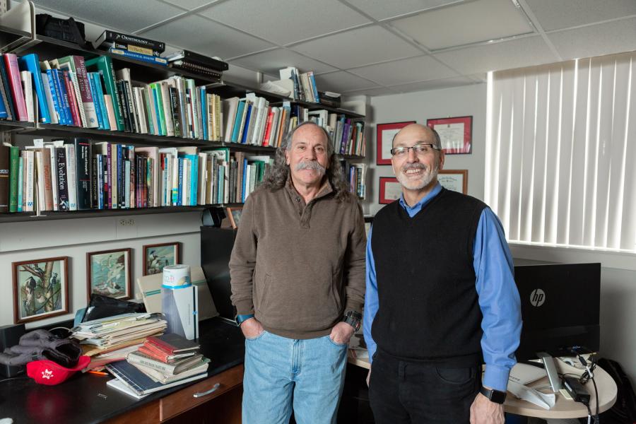
M 245 201 L 232 257 L 232 303 L 288 338 L 331 332 L 365 294 L 366 235 L 354 196 L 338 202 L 329 183 L 305 205 L 293 185 Z

